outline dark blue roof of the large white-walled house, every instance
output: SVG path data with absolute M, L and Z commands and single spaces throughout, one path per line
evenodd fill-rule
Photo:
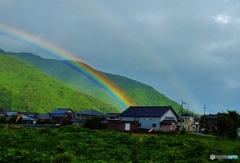
M 171 106 L 130 106 L 126 109 L 121 117 L 162 117 L 168 110 L 178 117 Z

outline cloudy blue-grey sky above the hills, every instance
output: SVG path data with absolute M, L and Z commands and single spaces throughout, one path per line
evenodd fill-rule
M 150 85 L 194 113 L 240 111 L 238 0 L 0 0 L 1 25 Z M 0 49 L 53 57 L 1 31 Z

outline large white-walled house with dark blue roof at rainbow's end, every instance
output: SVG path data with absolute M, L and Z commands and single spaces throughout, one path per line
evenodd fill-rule
M 130 106 L 119 120 L 108 120 L 108 129 L 134 131 L 175 130 L 178 115 L 171 106 Z

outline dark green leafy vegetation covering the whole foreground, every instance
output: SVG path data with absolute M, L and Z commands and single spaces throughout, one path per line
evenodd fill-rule
M 1 129 L 0 162 L 210 162 L 210 155 L 240 156 L 239 140 L 184 135 L 133 136 L 76 126 Z M 238 162 L 238 160 L 219 160 Z

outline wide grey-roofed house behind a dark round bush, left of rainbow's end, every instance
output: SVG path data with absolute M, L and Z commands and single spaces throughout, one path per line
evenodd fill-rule
M 107 115 L 97 110 L 89 109 L 89 110 L 76 112 L 75 117 L 71 120 L 71 122 L 73 123 L 73 125 L 83 126 L 86 119 L 91 117 L 100 117 L 103 119 L 103 123 L 104 123 L 106 122 Z

